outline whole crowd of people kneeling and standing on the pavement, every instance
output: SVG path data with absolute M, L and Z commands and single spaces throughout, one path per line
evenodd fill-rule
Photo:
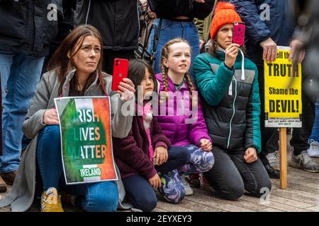
M 231 201 L 270 191 L 279 133 L 264 126 L 264 61 L 279 45 L 291 47 L 290 59 L 305 57 L 288 8 L 288 0 L 0 0 L 0 192 L 12 186 L 0 208 L 26 211 L 40 194 L 43 212 L 63 212 L 62 201 L 151 211 L 157 191 L 180 203 L 198 180 Z M 152 65 L 135 59 L 145 20 Z M 242 22 L 244 46 L 233 43 Z M 115 58 L 130 59 L 117 91 Z M 116 181 L 65 182 L 54 99 L 82 96 L 110 97 Z M 289 165 L 319 172 L 307 152 L 316 97 L 302 97 Z

